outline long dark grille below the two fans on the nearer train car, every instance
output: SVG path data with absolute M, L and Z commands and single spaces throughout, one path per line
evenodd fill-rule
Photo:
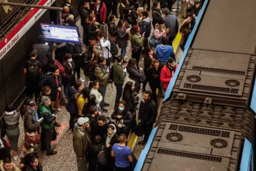
M 172 156 L 187 157 L 187 158 L 193 158 L 198 160 L 215 161 L 215 162 L 222 161 L 222 157 L 213 157 L 213 156 L 207 156 L 202 154 L 186 153 L 181 151 L 166 150 L 162 148 L 158 148 L 158 154 L 166 154 L 166 155 L 172 155 Z

